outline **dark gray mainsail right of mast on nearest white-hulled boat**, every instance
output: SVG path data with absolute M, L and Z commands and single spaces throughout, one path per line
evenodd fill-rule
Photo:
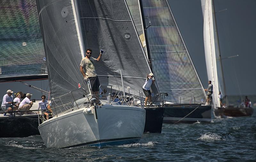
M 78 0 L 84 47 L 92 49 L 97 58 L 104 50 L 102 60 L 95 63 L 100 84 L 122 88 L 121 70 L 126 87 L 137 90 L 139 95 L 150 73 L 147 58 L 124 0 Z M 159 94 L 157 89 L 153 94 Z

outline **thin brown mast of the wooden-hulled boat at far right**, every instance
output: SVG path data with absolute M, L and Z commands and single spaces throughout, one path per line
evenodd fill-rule
M 215 29 L 216 29 L 216 31 L 214 31 L 214 32 L 217 36 L 217 43 L 218 43 L 217 50 L 219 52 L 219 59 L 220 59 L 220 69 L 221 69 L 221 76 L 222 76 L 223 90 L 224 90 L 224 95 L 223 96 L 226 96 L 227 95 L 227 93 L 226 93 L 226 84 L 225 84 L 224 73 L 223 73 L 223 68 L 222 68 L 222 60 L 221 60 L 221 55 L 220 55 L 220 42 L 219 42 L 219 35 L 218 35 L 217 21 L 216 21 L 216 16 L 215 16 L 215 7 L 214 7 L 213 0 L 212 0 L 212 14 L 213 14 L 213 17 L 214 17 L 214 24 L 215 24 Z M 228 97 L 226 97 L 226 105 L 228 105 Z

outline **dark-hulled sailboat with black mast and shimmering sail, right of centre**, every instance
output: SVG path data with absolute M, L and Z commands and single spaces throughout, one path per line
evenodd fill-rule
M 204 105 L 204 88 L 168 1 L 137 3 L 143 22 L 140 40 L 165 100 L 164 123 L 211 122 L 212 108 Z M 139 23 L 136 27 L 140 27 Z

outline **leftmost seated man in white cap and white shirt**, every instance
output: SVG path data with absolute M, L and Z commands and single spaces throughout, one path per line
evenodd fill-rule
M 10 112 L 10 111 L 15 111 L 18 109 L 18 106 L 15 105 L 15 103 L 13 102 L 13 98 L 12 98 L 12 90 L 7 90 L 6 91 L 7 94 L 4 95 L 3 97 L 3 101 L 2 101 L 2 109 L 5 112 Z

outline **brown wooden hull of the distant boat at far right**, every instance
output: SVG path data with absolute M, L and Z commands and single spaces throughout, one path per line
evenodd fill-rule
M 253 108 L 234 108 L 234 107 L 227 107 L 227 108 L 220 108 L 217 107 L 213 111 L 214 116 L 220 116 L 220 117 L 239 117 L 239 116 L 252 116 L 253 114 Z

